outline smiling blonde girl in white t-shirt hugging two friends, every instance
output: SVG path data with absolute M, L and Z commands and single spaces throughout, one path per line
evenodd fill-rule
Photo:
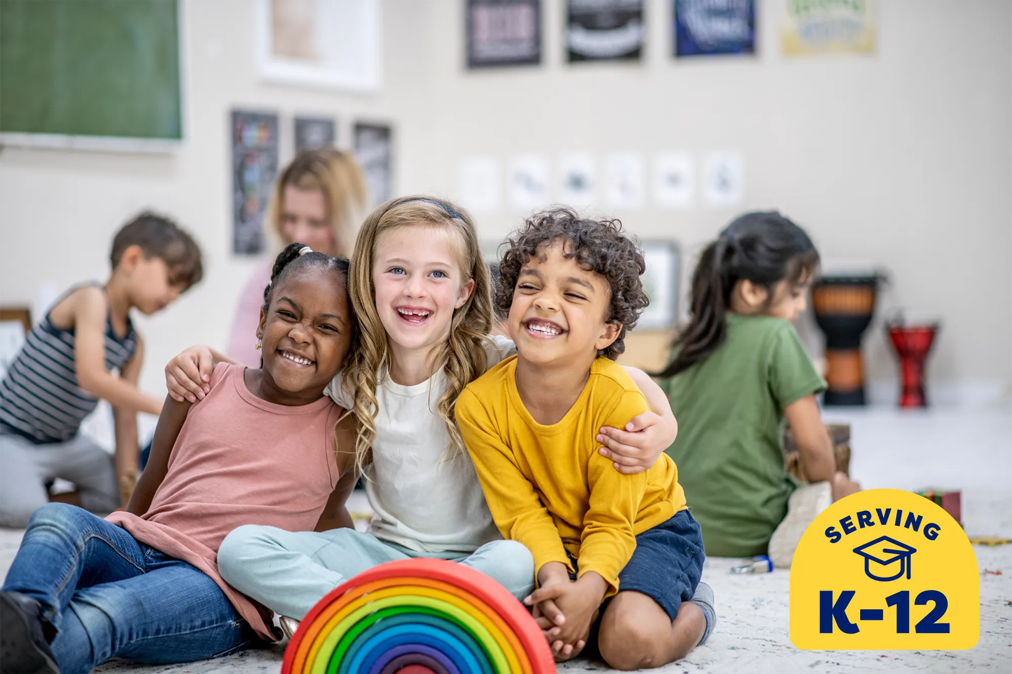
M 242 526 L 219 550 L 222 576 L 294 619 L 352 576 L 412 557 L 459 562 L 525 597 L 533 559 L 496 529 L 453 417 L 463 388 L 515 353 L 509 339 L 489 336 L 491 281 L 474 222 L 428 196 L 380 205 L 358 233 L 349 284 L 358 344 L 327 393 L 358 422 L 356 465 L 375 513 L 369 530 Z M 170 393 L 201 397 L 215 358 L 204 346 L 177 356 L 166 367 Z M 629 370 L 660 414 L 596 439 L 615 470 L 638 473 L 670 445 L 677 424 L 663 392 Z

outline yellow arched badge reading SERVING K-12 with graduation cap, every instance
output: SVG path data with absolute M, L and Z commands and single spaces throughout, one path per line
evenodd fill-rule
M 923 496 L 858 492 L 809 525 L 790 567 L 790 641 L 805 650 L 960 650 L 981 637 L 965 532 Z

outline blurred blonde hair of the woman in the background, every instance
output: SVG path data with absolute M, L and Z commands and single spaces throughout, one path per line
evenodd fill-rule
M 334 148 L 304 150 L 296 155 L 274 181 L 267 206 L 267 222 L 278 248 L 284 241 L 281 228 L 281 200 L 288 185 L 299 189 L 319 189 L 327 202 L 327 217 L 334 231 L 334 251 L 346 256 L 355 236 L 355 226 L 368 203 L 362 170 L 351 156 Z

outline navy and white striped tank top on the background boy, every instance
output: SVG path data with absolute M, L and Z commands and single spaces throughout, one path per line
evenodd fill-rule
M 77 384 L 74 342 L 74 329 L 55 327 L 48 314 L 28 333 L 0 382 L 0 434 L 14 433 L 36 444 L 66 442 L 77 435 L 81 422 L 98 406 L 98 399 Z M 105 368 L 122 369 L 135 351 L 137 333 L 130 319 L 126 335 L 120 338 L 106 318 Z

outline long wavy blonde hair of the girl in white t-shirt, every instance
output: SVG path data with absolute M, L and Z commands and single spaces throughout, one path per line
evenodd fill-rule
M 362 223 L 351 255 L 348 294 L 358 321 L 358 348 L 349 356 L 342 377 L 345 392 L 354 399 L 351 412 L 358 421 L 355 464 L 359 470 L 371 461 L 378 413 L 376 387 L 380 372 L 390 365 L 387 331 L 375 308 L 372 258 L 381 235 L 413 225 L 445 227 L 458 232 L 463 242 L 459 251 L 463 281 L 475 281 L 471 297 L 453 312 L 449 337 L 434 361 L 437 365 L 443 363 L 446 376 L 446 392 L 436 405 L 436 413 L 446 423 L 450 438 L 443 452 L 444 459 L 463 452 L 463 438 L 456 427 L 453 405 L 463 388 L 485 373 L 487 365 L 483 342 L 492 330 L 492 284 L 471 216 L 449 201 L 422 195 L 402 196 L 376 206 Z

